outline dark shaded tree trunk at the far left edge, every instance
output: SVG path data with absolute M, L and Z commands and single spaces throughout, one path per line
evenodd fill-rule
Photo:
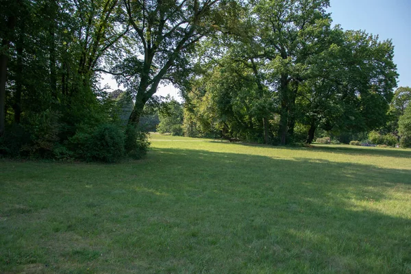
M 3 38 L 1 41 L 1 47 L 7 51 L 10 47 L 10 37 L 14 30 L 14 25 L 16 24 L 16 17 L 8 17 L 7 30 L 8 37 Z M 0 136 L 4 134 L 5 128 L 5 84 L 7 83 L 7 64 L 8 64 L 8 53 L 3 53 L 0 55 Z

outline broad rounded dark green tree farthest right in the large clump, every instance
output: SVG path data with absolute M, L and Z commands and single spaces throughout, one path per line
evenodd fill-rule
M 390 40 L 365 32 L 330 32 L 329 49 L 309 59 L 301 102 L 310 119 L 307 142 L 317 127 L 334 134 L 367 132 L 385 125 L 397 85 Z

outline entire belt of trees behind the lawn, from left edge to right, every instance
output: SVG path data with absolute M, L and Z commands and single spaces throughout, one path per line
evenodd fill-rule
M 392 92 L 392 42 L 332 27 L 327 0 L 0 5 L 2 153 L 70 158 L 106 130 L 125 135 L 113 140 L 127 153 L 142 151 L 138 122 L 160 83 L 179 86 L 186 100 L 184 114 L 175 102 L 160 118 L 184 115 L 190 136 L 349 142 L 374 129 L 399 134 L 406 119 L 410 90 Z M 127 88 L 127 114 L 100 87 L 100 72 Z

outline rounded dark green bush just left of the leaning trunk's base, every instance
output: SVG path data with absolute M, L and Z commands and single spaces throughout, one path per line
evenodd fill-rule
M 88 162 L 118 162 L 124 156 L 124 134 L 115 125 L 80 129 L 69 139 L 75 158 Z

